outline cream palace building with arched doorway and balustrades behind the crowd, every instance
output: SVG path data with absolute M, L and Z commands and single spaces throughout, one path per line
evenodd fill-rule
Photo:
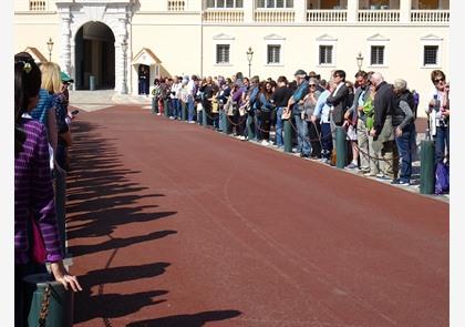
M 450 0 L 14 0 L 13 22 L 16 51 L 58 62 L 76 90 L 136 94 L 143 65 L 152 82 L 362 69 L 405 79 L 421 114 L 431 71 L 450 71 Z

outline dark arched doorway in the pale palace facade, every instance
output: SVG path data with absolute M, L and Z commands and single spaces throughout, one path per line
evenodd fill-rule
M 75 37 L 75 88 L 115 88 L 115 37 L 102 22 L 87 22 Z M 92 80 L 92 81 L 91 81 Z

